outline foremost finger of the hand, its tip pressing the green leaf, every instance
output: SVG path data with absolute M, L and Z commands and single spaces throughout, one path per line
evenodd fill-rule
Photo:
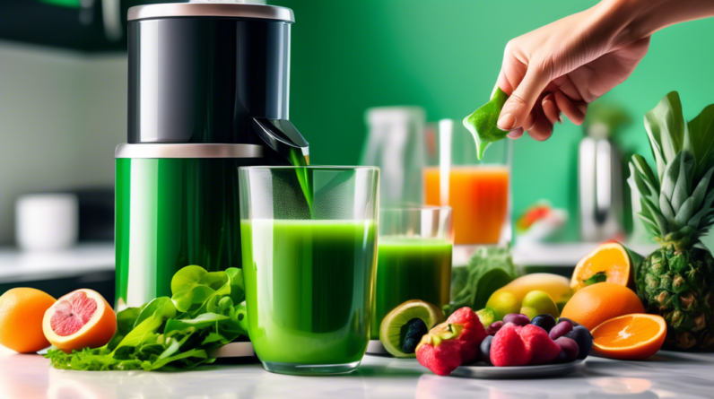
M 526 76 L 501 109 L 499 128 L 509 131 L 523 125 L 548 82 L 549 78 L 541 68 L 528 67 Z

